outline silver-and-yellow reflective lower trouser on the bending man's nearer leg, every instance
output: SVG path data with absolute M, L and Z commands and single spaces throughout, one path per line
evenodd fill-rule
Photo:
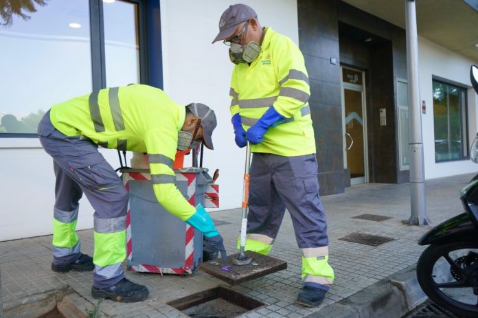
M 104 288 L 123 279 L 121 263 L 126 258 L 126 216 L 98 218 L 95 213 L 95 287 Z

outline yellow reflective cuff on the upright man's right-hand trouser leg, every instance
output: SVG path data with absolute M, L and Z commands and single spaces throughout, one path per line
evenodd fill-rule
M 328 286 L 334 282 L 334 270 L 328 264 L 328 247 L 301 249 L 302 280 L 310 286 Z

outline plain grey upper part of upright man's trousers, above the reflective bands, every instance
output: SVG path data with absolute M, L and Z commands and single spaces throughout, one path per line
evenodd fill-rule
M 255 152 L 251 163 L 247 233 L 275 239 L 287 207 L 299 248 L 328 246 L 315 155 Z

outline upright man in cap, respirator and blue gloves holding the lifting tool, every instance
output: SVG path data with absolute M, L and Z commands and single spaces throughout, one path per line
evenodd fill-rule
M 219 34 L 236 66 L 231 78 L 231 115 L 236 144 L 250 141 L 246 250 L 271 250 L 287 207 L 302 253 L 297 303 L 318 306 L 334 280 L 328 264 L 326 215 L 319 198 L 308 75 L 297 45 L 261 27 L 244 4 L 230 5 Z

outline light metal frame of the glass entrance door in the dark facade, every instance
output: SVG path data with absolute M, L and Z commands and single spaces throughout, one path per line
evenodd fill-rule
M 362 74 L 362 85 L 351 84 L 343 82 L 343 69 L 352 69 L 354 71 L 359 71 Z M 368 166 L 368 138 L 367 138 L 367 106 L 366 106 L 366 89 L 365 89 L 365 71 L 361 69 L 356 69 L 354 67 L 348 67 L 341 65 L 340 67 L 340 82 L 341 82 L 341 106 L 342 106 L 342 148 L 343 148 L 343 168 L 348 168 L 347 166 L 347 137 L 345 135 L 345 95 L 344 89 L 350 89 L 352 91 L 360 91 L 362 93 L 362 114 L 363 114 L 363 172 L 364 176 L 359 178 L 350 178 L 350 185 L 356 185 L 361 183 L 369 182 L 369 166 Z

